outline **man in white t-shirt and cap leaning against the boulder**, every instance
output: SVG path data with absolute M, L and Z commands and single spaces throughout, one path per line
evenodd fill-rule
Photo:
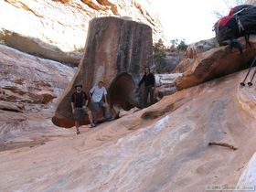
M 107 90 L 103 85 L 104 85 L 104 81 L 100 80 L 98 85 L 95 85 L 94 87 L 92 87 L 90 91 L 92 116 L 95 123 L 96 123 L 96 113 L 99 110 L 99 108 L 100 107 L 104 108 L 103 116 L 105 117 L 105 111 L 109 106 L 107 101 Z

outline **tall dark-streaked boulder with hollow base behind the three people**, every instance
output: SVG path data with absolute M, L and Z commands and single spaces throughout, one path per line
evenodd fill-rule
M 53 123 L 69 127 L 73 125 L 70 96 L 75 84 L 91 87 L 103 79 L 109 89 L 110 103 L 117 102 L 124 109 L 138 105 L 135 86 L 145 66 L 152 66 L 152 30 L 134 21 L 116 17 L 91 20 L 85 56 L 78 72 L 59 102 Z

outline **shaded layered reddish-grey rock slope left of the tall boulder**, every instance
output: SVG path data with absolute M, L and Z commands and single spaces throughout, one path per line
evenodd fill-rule
M 0 45 L 0 151 L 45 144 L 69 130 L 50 118 L 74 69 Z M 2 191 L 2 190 L 1 190 Z

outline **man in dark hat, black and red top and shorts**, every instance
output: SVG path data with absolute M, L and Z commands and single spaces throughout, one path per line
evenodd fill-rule
M 90 109 L 87 107 L 88 99 L 86 93 L 81 91 L 82 85 L 75 85 L 76 91 L 72 94 L 71 97 L 71 107 L 72 113 L 75 120 L 77 134 L 80 133 L 80 117 L 83 113 L 87 113 L 91 123 L 91 127 L 95 127 L 95 124 L 92 122 L 92 115 Z

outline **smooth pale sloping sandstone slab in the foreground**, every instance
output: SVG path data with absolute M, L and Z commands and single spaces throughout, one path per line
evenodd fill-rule
M 238 101 L 246 72 L 177 91 L 95 129 L 82 126 L 79 136 L 1 152 L 0 191 L 202 192 L 208 186 L 234 187 L 256 151 L 256 118 Z M 249 94 L 255 96 L 255 89 Z

